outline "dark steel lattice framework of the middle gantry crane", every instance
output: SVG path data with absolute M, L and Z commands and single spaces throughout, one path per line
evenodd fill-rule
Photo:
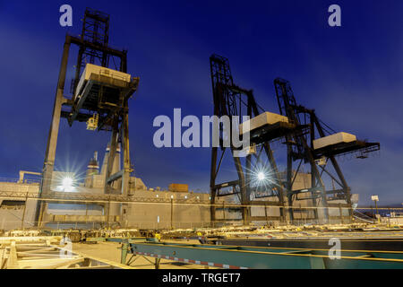
M 210 72 L 211 84 L 214 100 L 214 115 L 217 117 L 242 117 L 249 116 L 255 117 L 260 114 L 260 108 L 253 97 L 252 90 L 245 90 L 234 83 L 229 62 L 227 58 L 218 55 L 210 57 Z M 262 110 L 262 109 L 261 109 Z M 232 125 L 232 124 L 231 124 Z M 232 126 L 231 126 L 232 127 Z M 230 130 L 232 130 L 230 128 Z M 229 196 L 238 195 L 242 205 L 253 204 L 251 196 L 253 191 L 259 189 L 259 185 L 253 183 L 255 176 L 254 170 L 261 169 L 267 170 L 273 177 L 270 183 L 270 195 L 278 198 L 277 202 L 273 201 L 260 201 L 259 204 L 278 205 L 280 207 L 280 216 L 284 217 L 284 196 L 283 187 L 279 178 L 279 170 L 277 169 L 276 162 L 274 161 L 272 151 L 270 149 L 269 141 L 260 143 L 258 152 L 248 154 L 244 158 L 234 156 L 237 151 L 236 147 L 231 141 L 231 146 L 226 148 L 222 143 L 224 142 L 224 126 L 219 126 L 219 147 L 212 147 L 211 152 L 211 167 L 210 167 L 210 195 L 211 195 L 211 222 L 216 222 L 216 196 Z M 227 135 L 232 138 L 231 135 Z M 236 167 L 237 178 L 235 180 L 223 183 L 217 183 L 220 167 L 224 161 L 225 152 L 229 149 L 232 154 L 232 159 Z M 232 188 L 232 192 L 221 192 L 224 188 Z M 244 223 L 253 220 L 251 210 L 248 207 L 242 207 L 242 217 Z

